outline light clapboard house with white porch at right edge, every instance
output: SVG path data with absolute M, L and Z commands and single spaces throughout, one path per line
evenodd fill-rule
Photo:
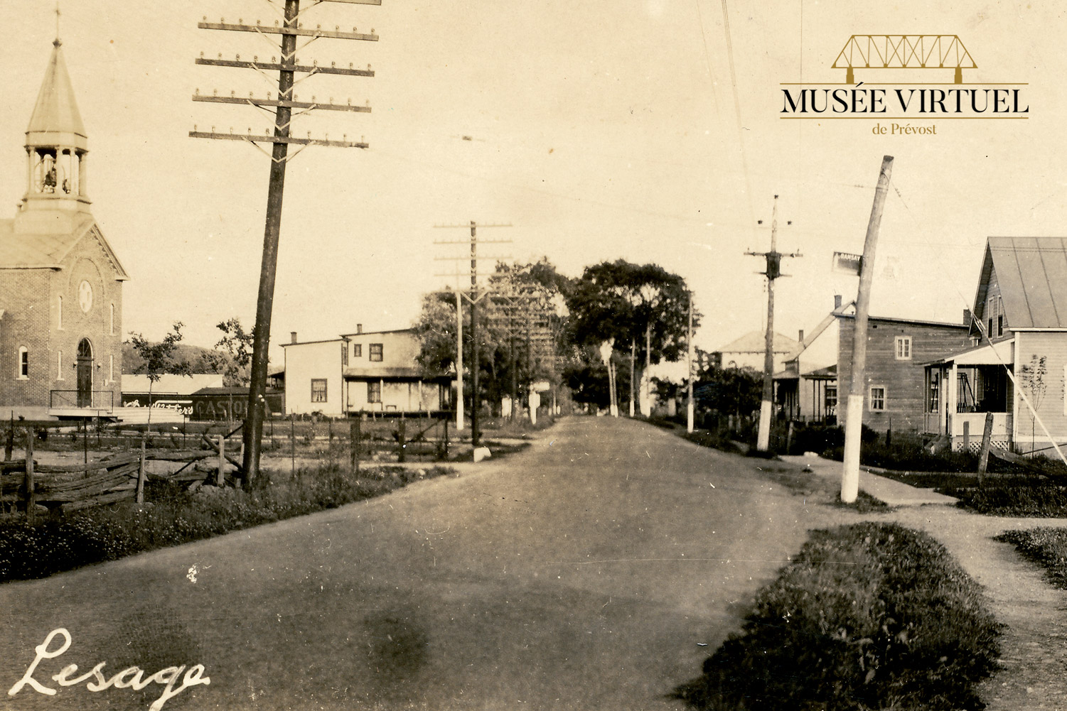
M 969 348 L 925 363 L 925 431 L 953 449 L 1021 453 L 1067 441 L 1067 238 L 990 237 Z

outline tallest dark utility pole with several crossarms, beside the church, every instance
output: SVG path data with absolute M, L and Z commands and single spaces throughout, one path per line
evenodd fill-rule
M 312 3 L 310 7 L 315 7 L 323 1 L 364 5 L 382 4 L 381 0 L 317 0 Z M 210 131 L 198 131 L 196 130 L 196 127 L 193 127 L 193 130 L 189 132 L 189 135 L 195 139 L 248 141 L 260 150 L 264 150 L 259 146 L 260 143 L 270 143 L 273 146 L 272 152 L 270 153 L 270 182 L 267 189 L 267 220 L 266 227 L 264 229 L 262 261 L 259 269 L 259 292 L 256 301 L 256 325 L 253 330 L 252 381 L 249 385 L 248 419 L 245 420 L 243 432 L 244 459 L 242 462 L 242 466 L 244 469 L 243 481 L 245 487 L 251 486 L 252 480 L 259 471 L 259 440 L 262 436 L 264 409 L 267 405 L 266 392 L 268 349 L 270 345 L 271 313 L 274 305 L 274 276 L 277 266 L 277 245 L 282 228 L 282 198 L 285 189 L 285 167 L 291 158 L 294 158 L 301 150 L 303 150 L 304 147 L 308 145 L 339 148 L 367 147 L 367 144 L 362 141 L 349 141 L 347 135 L 344 135 L 340 141 L 331 141 L 327 138 L 312 139 L 310 135 L 307 138 L 297 138 L 290 133 L 289 129 L 292 122 L 293 109 L 300 110 L 299 113 L 307 113 L 314 110 L 370 112 L 369 106 L 352 106 L 351 101 L 345 104 L 334 103 L 333 100 L 320 102 L 315 101 L 314 97 L 312 97 L 313 100 L 309 102 L 297 100 L 298 97 L 292 92 L 292 87 L 296 82 L 294 76 L 297 74 L 306 75 L 306 77 L 303 77 L 302 79 L 309 78 L 316 74 L 339 75 L 347 77 L 375 76 L 375 72 L 370 70 L 369 66 L 366 69 L 354 69 L 351 64 L 348 68 L 340 68 L 335 65 L 319 66 L 318 63 L 313 65 L 301 65 L 297 59 L 297 37 L 307 38 L 307 43 L 304 47 L 306 47 L 307 44 L 320 38 L 359 39 L 365 42 L 378 41 L 378 35 L 375 34 L 373 30 L 371 30 L 370 33 L 360 33 L 355 28 L 352 28 L 351 32 L 343 32 L 339 29 L 332 31 L 322 30 L 321 26 L 317 26 L 314 30 L 305 29 L 303 23 L 300 21 L 301 14 L 300 0 L 285 0 L 285 16 L 284 22 L 281 26 L 278 26 L 276 20 L 273 25 L 260 25 L 258 22 L 256 25 L 243 25 L 241 23 L 241 20 L 238 20 L 237 23 L 232 23 L 226 22 L 225 19 L 220 19 L 218 22 L 209 22 L 207 21 L 207 17 L 204 18 L 204 21 L 197 25 L 197 27 L 205 30 L 253 32 L 265 38 L 270 35 L 281 36 L 281 55 L 276 62 L 273 58 L 271 58 L 270 62 L 259 62 L 257 58 L 253 58 L 251 62 L 246 60 L 242 61 L 239 55 L 234 60 L 223 60 L 221 54 L 217 60 L 205 59 L 203 55 L 196 60 L 197 64 L 255 69 L 259 74 L 264 74 L 265 71 L 277 71 L 276 99 L 272 99 L 270 93 L 267 94 L 266 98 L 255 98 L 251 95 L 248 98 L 244 98 L 237 97 L 236 92 L 232 92 L 229 96 L 218 96 L 218 94 L 206 96 L 202 95 L 198 90 L 193 96 L 194 101 L 250 104 L 258 109 L 262 109 L 268 113 L 273 110 L 273 133 L 253 134 L 251 128 L 248 133 L 244 134 L 234 133 L 233 130 L 230 130 L 229 133 L 222 133 L 217 132 L 213 126 Z M 291 156 L 288 152 L 290 144 L 301 146 Z M 264 152 L 266 152 L 266 150 L 264 150 Z

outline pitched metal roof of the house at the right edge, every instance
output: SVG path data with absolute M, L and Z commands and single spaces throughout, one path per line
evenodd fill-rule
M 990 237 L 974 295 L 976 318 L 985 318 L 994 271 L 1012 328 L 1067 327 L 1067 238 Z

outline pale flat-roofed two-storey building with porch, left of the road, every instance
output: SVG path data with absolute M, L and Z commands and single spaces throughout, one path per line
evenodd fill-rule
M 285 349 L 287 414 L 426 413 L 449 407 L 449 376 L 430 377 L 416 358 L 411 328 L 355 333 Z

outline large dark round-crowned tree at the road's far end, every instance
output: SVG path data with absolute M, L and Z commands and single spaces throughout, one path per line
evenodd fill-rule
M 649 368 L 662 360 L 674 362 L 685 354 L 688 287 L 681 276 L 657 264 L 619 259 L 587 266 L 568 294 L 567 306 L 575 344 L 614 339 L 616 349 L 628 350 L 636 361 L 644 361 L 634 381 L 644 383 L 646 405 Z M 700 314 L 694 313 L 694 327 L 699 325 Z M 642 410 L 648 414 L 647 407 Z

